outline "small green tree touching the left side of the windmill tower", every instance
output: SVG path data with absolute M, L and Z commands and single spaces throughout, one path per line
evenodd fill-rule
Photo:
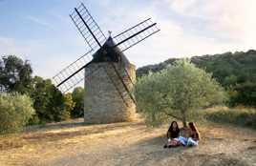
M 81 87 L 75 88 L 72 93 L 72 98 L 75 102 L 75 108 L 71 112 L 71 116 L 75 118 L 82 117 L 84 113 L 84 89 Z

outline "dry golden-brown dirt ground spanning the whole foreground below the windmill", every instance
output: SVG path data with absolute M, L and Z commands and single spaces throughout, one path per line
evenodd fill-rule
M 1 149 L 0 139 L 0 165 L 256 166 L 255 131 L 209 125 L 200 128 L 200 146 L 163 149 L 165 130 L 142 122 L 41 129 L 16 136 L 19 145 Z

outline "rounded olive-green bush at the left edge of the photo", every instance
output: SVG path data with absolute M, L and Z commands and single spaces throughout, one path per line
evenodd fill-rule
M 0 134 L 18 132 L 34 114 L 32 100 L 19 93 L 0 94 Z

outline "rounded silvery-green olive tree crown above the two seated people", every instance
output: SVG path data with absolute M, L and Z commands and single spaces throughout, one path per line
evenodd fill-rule
M 171 116 L 180 119 L 186 127 L 196 110 L 224 101 L 224 91 L 212 75 L 186 59 L 176 61 L 159 73 L 142 76 L 135 94 L 139 111 L 153 125 Z

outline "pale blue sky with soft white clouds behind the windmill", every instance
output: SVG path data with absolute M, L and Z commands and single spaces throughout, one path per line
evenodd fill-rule
M 113 35 L 151 17 L 160 32 L 125 52 L 137 68 L 173 57 L 256 49 L 255 0 L 0 0 L 0 55 L 51 78 L 88 50 L 69 14 L 83 2 Z

